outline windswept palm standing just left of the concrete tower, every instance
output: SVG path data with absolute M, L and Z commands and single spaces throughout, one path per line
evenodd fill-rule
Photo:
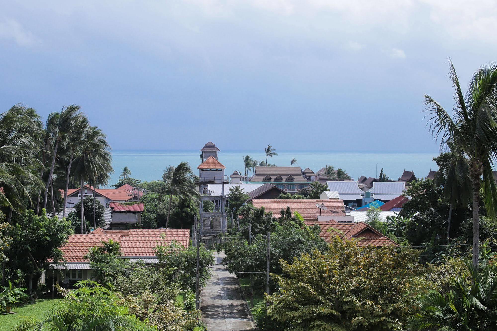
M 195 189 L 195 174 L 187 162 L 181 162 L 177 166 L 169 165 L 162 175 L 166 188 L 161 191 L 159 197 L 164 194 L 169 195 L 169 207 L 167 208 L 166 229 L 171 213 L 172 196 L 180 196 L 183 198 L 197 199 L 199 192 Z

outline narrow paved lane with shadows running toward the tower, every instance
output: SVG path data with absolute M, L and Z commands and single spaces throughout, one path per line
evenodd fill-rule
M 214 253 L 221 263 L 224 252 Z M 255 330 L 234 274 L 218 265 L 200 294 L 202 323 L 207 331 Z

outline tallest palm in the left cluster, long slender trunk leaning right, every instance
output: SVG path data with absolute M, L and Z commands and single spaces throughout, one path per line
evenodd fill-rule
M 54 173 L 55 159 L 57 158 L 57 150 L 60 144 L 64 141 L 66 136 L 71 132 L 78 130 L 78 125 L 81 125 L 83 121 L 81 117 L 83 114 L 80 111 L 81 107 L 76 105 L 70 105 L 61 110 L 59 117 L 57 119 L 57 126 L 53 132 L 53 139 L 55 141 L 54 149 L 52 151 L 52 164 L 50 166 L 50 173 L 48 175 L 47 184 L 45 186 L 45 197 L 43 201 L 43 208 L 47 208 L 47 197 L 48 188 L 52 181 L 52 175 Z

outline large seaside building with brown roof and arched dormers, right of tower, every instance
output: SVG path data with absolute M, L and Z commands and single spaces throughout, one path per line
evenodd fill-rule
M 312 182 L 302 174 L 300 166 L 256 166 L 248 181 L 273 184 L 290 193 L 296 193 Z

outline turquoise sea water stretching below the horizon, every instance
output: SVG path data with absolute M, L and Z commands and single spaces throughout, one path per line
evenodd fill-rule
M 114 174 L 109 185 L 115 183 L 121 173 L 121 168 L 128 166 L 131 176 L 142 181 L 161 179 L 164 169 L 168 165 L 177 165 L 182 161 L 188 162 L 197 173 L 200 163 L 199 151 L 113 151 Z M 244 172 L 242 158 L 249 155 L 252 159 L 264 160 L 265 154 L 257 151 L 221 151 L 219 161 L 226 166 L 226 174 L 234 170 Z M 397 179 L 404 169 L 414 170 L 417 177 L 425 177 L 431 169 L 437 169 L 431 159 L 438 153 L 365 153 L 365 152 L 278 152 L 278 156 L 269 158 L 269 163 L 279 166 L 289 166 L 290 161 L 296 158 L 298 166 L 318 171 L 325 165 L 343 168 L 354 179 L 359 176 L 375 177 L 380 169 L 390 178 Z

